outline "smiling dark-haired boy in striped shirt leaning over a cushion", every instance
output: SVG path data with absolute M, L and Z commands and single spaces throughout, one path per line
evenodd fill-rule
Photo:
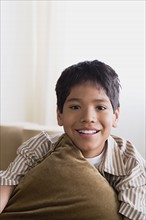
M 145 161 L 129 141 L 111 135 L 119 119 L 119 90 L 118 75 L 110 66 L 98 60 L 72 65 L 62 72 L 56 84 L 57 119 L 84 158 L 117 192 L 123 218 L 144 220 Z M 56 143 L 58 138 L 51 140 L 43 132 L 18 149 L 11 167 L 1 172 L 1 185 L 9 185 L 5 193 L 4 187 L 1 188 L 5 198 L 11 194 L 10 185 L 17 185 L 31 166 L 53 148 L 52 142 Z M 29 154 L 33 154 L 33 160 Z

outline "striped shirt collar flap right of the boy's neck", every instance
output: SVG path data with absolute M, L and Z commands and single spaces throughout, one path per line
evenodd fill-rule
M 104 172 L 116 176 L 126 175 L 120 148 L 112 136 L 110 136 L 107 140 L 103 160 L 99 165 L 99 170 L 103 175 Z

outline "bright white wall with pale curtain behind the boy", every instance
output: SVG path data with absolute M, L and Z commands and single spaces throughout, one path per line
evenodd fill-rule
M 122 84 L 114 134 L 145 154 L 144 1 L 2 1 L 1 122 L 57 126 L 55 84 L 67 66 L 99 59 Z

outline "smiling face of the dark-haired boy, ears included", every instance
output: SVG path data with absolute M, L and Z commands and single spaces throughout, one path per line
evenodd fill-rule
M 98 85 L 85 82 L 74 86 L 57 111 L 58 124 L 81 150 L 84 157 L 95 157 L 104 148 L 112 127 L 116 127 L 119 109 L 113 113 L 111 102 Z

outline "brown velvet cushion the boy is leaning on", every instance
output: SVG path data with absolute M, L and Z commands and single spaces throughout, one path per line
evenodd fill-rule
M 0 219 L 119 220 L 116 193 L 64 135 L 14 190 Z

